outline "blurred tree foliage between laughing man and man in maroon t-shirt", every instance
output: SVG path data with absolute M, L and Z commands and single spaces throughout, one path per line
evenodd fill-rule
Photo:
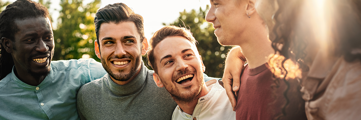
M 199 11 L 180 12 L 179 18 L 169 25 L 187 27 L 193 33 L 193 37 L 198 41 L 197 48 L 202 56 L 205 74 L 210 77 L 222 78 L 224 70 L 225 56 L 231 46 L 222 46 L 218 43 L 214 28 L 211 23 L 205 21 L 206 9 L 199 8 Z M 166 25 L 163 23 L 163 25 Z

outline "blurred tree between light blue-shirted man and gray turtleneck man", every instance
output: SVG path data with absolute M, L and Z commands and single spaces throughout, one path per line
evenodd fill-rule
M 100 0 L 83 5 L 83 0 L 61 0 L 62 10 L 54 30 L 55 52 L 53 60 L 97 58 L 94 53 L 96 39 L 94 17 Z M 100 59 L 96 59 L 100 62 Z

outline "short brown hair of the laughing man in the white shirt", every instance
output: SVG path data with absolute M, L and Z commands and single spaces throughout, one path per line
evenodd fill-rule
M 154 48 L 167 37 L 172 36 L 181 36 L 189 40 L 196 47 L 196 40 L 194 39 L 192 33 L 187 28 L 177 27 L 177 26 L 165 26 L 154 33 L 151 40 L 149 40 L 149 51 L 148 51 L 148 64 L 151 65 L 153 70 L 158 73 L 156 59 L 154 57 Z

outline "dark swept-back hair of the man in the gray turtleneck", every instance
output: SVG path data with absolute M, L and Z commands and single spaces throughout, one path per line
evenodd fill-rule
M 115 3 L 106 5 L 104 8 L 101 8 L 96 12 L 94 18 L 95 24 L 95 34 L 96 39 L 99 44 L 99 29 L 102 23 L 115 23 L 119 24 L 121 22 L 134 22 L 135 26 L 138 29 L 140 39 L 143 42 L 144 39 L 144 23 L 143 17 L 139 14 L 135 14 L 132 9 L 123 3 Z

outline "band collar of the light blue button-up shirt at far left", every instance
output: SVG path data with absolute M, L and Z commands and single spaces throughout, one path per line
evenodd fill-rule
M 45 79 L 42 81 L 42 83 L 40 83 L 38 86 L 28 85 L 28 84 L 22 82 L 21 80 L 19 80 L 18 77 L 16 77 L 16 75 L 14 73 L 14 68 L 15 68 L 15 66 L 13 66 L 13 70 L 11 72 L 13 80 L 20 88 L 22 88 L 24 90 L 38 92 L 38 91 L 44 89 L 46 86 L 48 86 L 53 81 L 53 78 L 54 78 L 54 72 L 51 69 L 48 76 L 46 76 Z M 52 68 L 52 67 L 50 66 L 50 68 Z M 39 90 L 36 90 L 37 87 L 39 87 Z

